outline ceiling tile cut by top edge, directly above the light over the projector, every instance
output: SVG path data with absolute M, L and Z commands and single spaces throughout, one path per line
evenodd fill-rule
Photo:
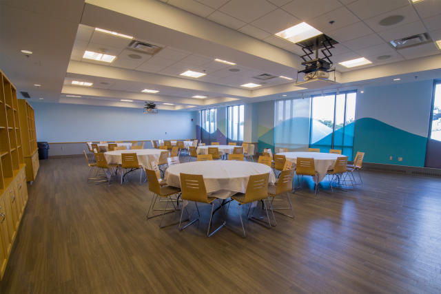
M 337 0 L 294 0 L 282 6 L 282 9 L 302 21 L 308 21 L 341 6 Z

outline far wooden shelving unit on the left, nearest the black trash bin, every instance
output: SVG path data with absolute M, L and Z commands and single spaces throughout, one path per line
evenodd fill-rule
M 23 157 L 26 164 L 26 178 L 32 182 L 37 177 L 39 170 L 39 154 L 37 149 L 37 136 L 35 133 L 34 109 L 28 101 L 19 99 L 20 132 L 23 142 Z

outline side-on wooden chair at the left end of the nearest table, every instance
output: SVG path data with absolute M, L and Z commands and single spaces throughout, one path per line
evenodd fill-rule
M 152 202 L 150 202 L 150 207 L 149 210 L 147 211 L 147 220 L 150 220 L 150 218 L 156 218 L 157 216 L 161 216 L 161 222 L 159 222 L 159 227 L 160 228 L 166 227 L 162 225 L 164 216 L 167 213 L 173 213 L 177 211 L 176 207 L 174 207 L 174 201 L 176 201 L 176 199 L 178 198 L 176 196 L 176 199 L 172 199 L 172 195 L 176 195 L 177 193 L 180 192 L 180 190 L 176 187 L 161 185 L 158 182 L 156 171 L 152 169 L 145 169 L 145 174 L 147 175 L 147 180 L 149 181 L 149 191 L 153 193 L 153 199 Z M 163 213 L 159 213 L 156 216 L 150 216 L 150 211 L 155 210 L 154 204 L 156 204 L 156 200 L 158 199 L 158 197 L 167 198 L 167 204 L 165 204 Z M 169 203 L 172 203 L 174 208 L 168 209 L 167 207 Z

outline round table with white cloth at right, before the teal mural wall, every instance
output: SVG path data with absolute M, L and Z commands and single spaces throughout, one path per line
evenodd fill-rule
M 320 152 L 282 152 L 279 155 L 285 155 L 287 160 L 294 162 L 298 157 L 314 158 L 314 165 L 318 172 L 316 182 L 321 182 L 329 169 L 332 169 L 336 163 L 337 158 L 345 157 L 345 155 L 320 153 Z

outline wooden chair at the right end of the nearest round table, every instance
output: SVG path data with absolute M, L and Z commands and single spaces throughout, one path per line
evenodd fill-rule
M 283 214 L 289 218 L 294 218 L 294 209 L 292 208 L 291 198 L 289 198 L 289 192 L 292 191 L 292 181 L 294 179 L 294 169 L 288 169 L 280 172 L 280 176 L 278 177 L 277 182 L 274 185 L 269 185 L 268 187 L 268 196 L 271 199 L 271 213 L 274 218 L 274 223 L 277 224 L 276 218 L 274 217 L 274 211 L 277 213 Z M 285 194 L 287 196 L 289 207 L 273 207 L 272 203 L 278 196 L 283 196 Z M 278 211 L 278 209 L 291 209 L 291 216 L 288 214 L 282 213 Z

